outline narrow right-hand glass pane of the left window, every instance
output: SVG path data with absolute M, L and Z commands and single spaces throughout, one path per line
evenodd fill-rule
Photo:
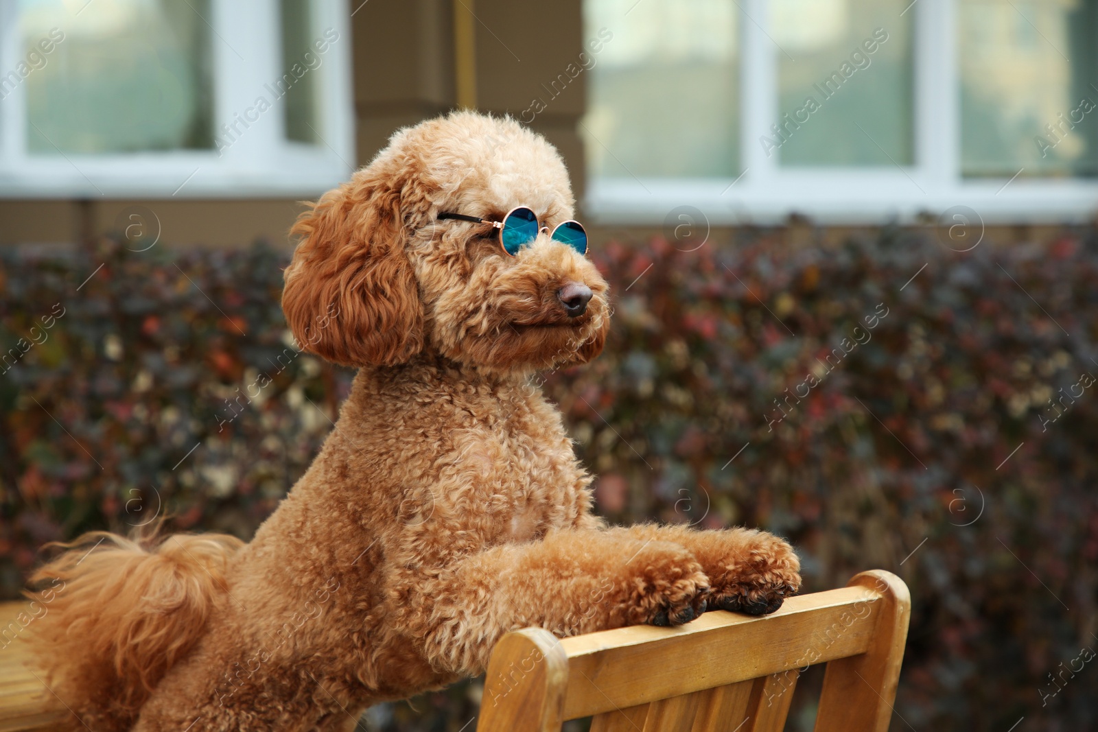
M 312 47 L 314 38 L 310 0 L 281 0 L 282 80 L 285 90 L 285 136 L 299 143 L 314 144 L 316 129 L 316 76 L 321 56 Z

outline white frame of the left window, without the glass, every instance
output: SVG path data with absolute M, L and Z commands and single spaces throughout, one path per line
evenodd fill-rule
M 94 12 L 94 4 L 86 8 Z M 238 125 L 242 134 L 221 155 L 216 149 L 29 155 L 27 77 L 0 100 L 0 199 L 298 198 L 347 180 L 355 167 L 347 0 L 314 0 L 312 13 L 313 35 L 320 38 L 327 29 L 339 34 L 321 65 L 307 71 L 316 75 L 316 132 L 323 142 L 287 140 L 284 100 L 273 100 L 265 88 L 284 72 L 278 1 L 211 0 L 211 16 L 204 20 L 212 29 L 215 136 L 224 138 L 221 125 L 254 108 L 259 95 L 272 102 L 271 109 L 247 129 Z M 18 0 L 0 0 L 0 74 L 14 69 L 25 54 L 18 20 Z

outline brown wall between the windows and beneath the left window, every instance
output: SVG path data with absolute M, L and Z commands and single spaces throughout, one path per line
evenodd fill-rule
M 359 2 L 354 0 L 351 7 Z M 462 5 L 455 0 L 372 0 L 362 4 L 351 19 L 358 164 L 368 162 L 397 127 L 456 106 L 453 8 L 468 7 L 479 19 L 477 105 L 518 116 L 541 97 L 547 109 L 531 126 L 560 148 L 579 195 L 583 150 L 575 128 L 585 79 L 581 74 L 556 99 L 541 85 L 548 87 L 581 50 L 580 2 L 463 0 Z M 287 230 L 301 211 L 292 199 L 0 200 L 0 245 L 71 243 L 89 233 L 117 230 L 120 212 L 132 205 L 155 214 L 165 244 L 183 247 L 247 246 L 259 237 L 288 246 Z

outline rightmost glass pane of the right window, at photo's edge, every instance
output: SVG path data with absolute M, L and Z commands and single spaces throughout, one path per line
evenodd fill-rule
M 1098 172 L 1096 4 L 960 1 L 965 176 Z

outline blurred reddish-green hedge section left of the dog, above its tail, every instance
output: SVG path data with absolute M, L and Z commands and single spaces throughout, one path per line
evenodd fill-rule
M 175 529 L 250 534 L 349 383 L 291 347 L 284 255 L 104 241 L 67 258 L 0 257 L 0 357 L 29 345 L 0 364 L 4 595 L 42 542 L 88 529 L 171 515 Z M 261 390 L 259 373 L 271 379 Z

